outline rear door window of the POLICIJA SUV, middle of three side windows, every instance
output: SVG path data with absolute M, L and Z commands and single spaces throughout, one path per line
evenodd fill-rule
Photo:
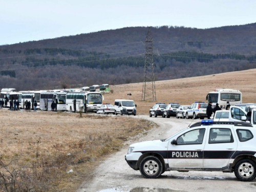
M 234 142 L 230 129 L 210 129 L 209 143 L 232 143 Z

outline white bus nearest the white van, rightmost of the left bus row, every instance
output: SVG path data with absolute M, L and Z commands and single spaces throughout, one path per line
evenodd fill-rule
M 68 92 L 67 93 L 67 110 L 70 112 L 82 111 L 97 112 L 97 109 L 101 106 L 104 97 L 101 93 L 96 92 Z

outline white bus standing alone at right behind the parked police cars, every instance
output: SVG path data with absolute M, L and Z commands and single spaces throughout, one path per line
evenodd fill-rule
M 220 108 L 224 109 L 227 101 L 230 105 L 242 103 L 242 93 L 239 90 L 216 89 L 207 94 L 206 100 L 208 100 L 208 103 L 212 102 L 212 108 L 215 107 L 216 103 L 219 103 Z

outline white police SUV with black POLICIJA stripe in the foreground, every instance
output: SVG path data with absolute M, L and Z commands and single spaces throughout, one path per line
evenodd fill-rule
M 202 120 L 168 139 L 130 145 L 126 162 L 145 178 L 165 171 L 234 172 L 240 181 L 256 177 L 256 129 L 246 122 Z

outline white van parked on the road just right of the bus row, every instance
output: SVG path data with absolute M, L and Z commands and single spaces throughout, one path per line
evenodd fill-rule
M 137 105 L 134 103 L 133 100 L 116 99 L 114 106 L 116 110 L 116 115 L 136 115 Z

